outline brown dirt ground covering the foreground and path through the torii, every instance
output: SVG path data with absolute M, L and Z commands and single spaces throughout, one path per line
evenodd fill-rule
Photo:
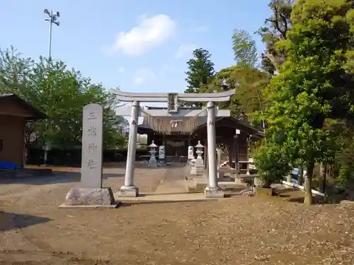
M 154 192 L 181 168 L 138 166 Z M 282 197 L 63 209 L 78 170 L 0 180 L 0 264 L 354 264 L 354 208 L 303 206 Z M 104 170 L 117 191 L 124 168 Z M 165 183 L 166 184 L 166 183 Z M 290 196 L 291 195 L 291 196 Z M 287 197 L 290 196 L 290 197 Z

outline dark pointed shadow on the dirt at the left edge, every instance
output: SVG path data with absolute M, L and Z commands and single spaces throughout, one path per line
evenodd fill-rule
M 40 216 L 27 216 L 18 213 L 6 213 L 0 211 L 0 231 L 8 231 L 18 228 L 26 228 L 30 225 L 37 225 L 39 223 L 47 223 L 50 218 Z

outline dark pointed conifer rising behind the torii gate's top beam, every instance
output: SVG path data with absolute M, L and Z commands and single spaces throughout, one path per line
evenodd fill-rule
M 207 86 L 215 75 L 214 63 L 212 62 L 211 54 L 206 49 L 195 49 L 193 51 L 193 58 L 188 64 L 188 71 L 185 72 L 187 76 L 185 81 L 188 86 L 185 93 L 200 93 L 203 86 Z M 195 107 L 200 107 L 201 103 L 192 102 L 190 104 Z

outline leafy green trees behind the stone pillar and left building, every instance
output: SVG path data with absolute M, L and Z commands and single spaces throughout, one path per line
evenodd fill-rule
M 35 62 L 23 58 L 16 49 L 0 52 L 0 93 L 15 93 L 50 119 L 28 124 L 27 143 L 35 136 L 39 143 L 50 142 L 62 148 L 80 144 L 82 109 L 96 102 L 104 110 L 104 144 L 124 143 L 118 133 L 112 110 L 118 102 L 101 84 L 93 84 L 81 73 L 69 70 L 62 61 Z

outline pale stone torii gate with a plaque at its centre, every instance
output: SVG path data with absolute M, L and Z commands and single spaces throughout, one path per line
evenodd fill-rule
M 120 187 L 120 196 L 138 196 L 139 189 L 134 185 L 135 151 L 137 147 L 137 121 L 144 113 L 139 107 L 139 102 L 167 102 L 167 110 L 145 110 L 145 112 L 156 117 L 195 117 L 207 115 L 207 158 L 209 168 L 209 185 L 205 188 L 206 197 L 224 197 L 224 192 L 217 183 L 217 158 L 216 158 L 216 137 L 215 117 L 229 117 L 229 110 L 218 110 L 214 102 L 229 101 L 235 90 L 228 90 L 221 93 L 128 93 L 118 89 L 111 90 L 116 98 L 122 102 L 132 102 L 132 107 L 122 110 L 119 115 L 131 115 L 127 165 L 125 169 L 125 182 Z M 200 110 L 183 110 L 179 113 L 178 102 L 207 102 L 205 112 Z

